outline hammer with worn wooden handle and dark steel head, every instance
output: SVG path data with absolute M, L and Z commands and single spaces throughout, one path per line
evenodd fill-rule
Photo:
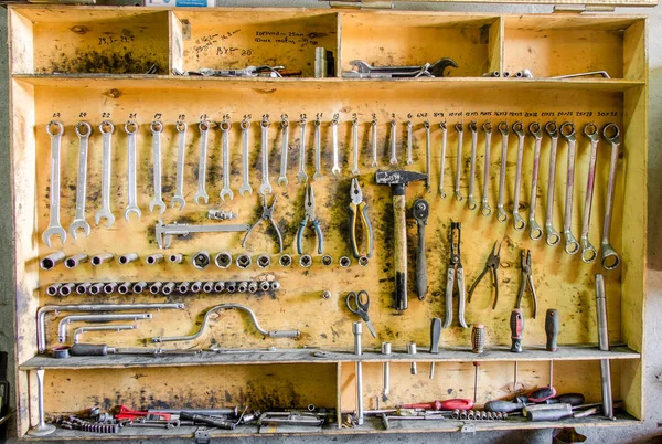
M 395 309 L 407 309 L 407 222 L 405 220 L 405 187 L 415 180 L 426 179 L 427 175 L 415 171 L 377 171 L 375 181 L 388 184 L 393 191 L 395 213 Z

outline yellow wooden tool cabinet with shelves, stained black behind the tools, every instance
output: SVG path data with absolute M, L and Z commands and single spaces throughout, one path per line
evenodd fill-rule
M 648 50 L 647 21 L 643 17 L 615 14 L 499 15 L 473 13 L 431 13 L 393 11 L 346 11 L 305 9 L 175 9 L 105 7 L 9 7 L 11 46 L 11 162 L 15 230 L 15 338 L 18 430 L 24 435 L 36 423 L 38 368 L 45 372 L 46 415 L 76 412 L 98 405 L 109 409 L 127 404 L 147 408 L 220 408 L 248 405 L 268 410 L 271 406 L 305 408 L 307 404 L 352 411 L 355 408 L 355 376 L 352 321 L 359 318 L 344 305 L 346 292 L 365 289 L 372 297 L 370 315 L 378 338 L 364 329 L 361 360 L 364 378 L 364 405 L 376 408 L 381 398 L 382 363 L 391 361 L 391 394 L 380 405 L 429 401 L 433 399 L 472 398 L 473 361 L 480 361 L 477 405 L 512 394 L 513 364 L 519 362 L 519 383 L 526 389 L 548 383 L 548 364 L 554 361 L 554 385 L 559 393 L 579 391 L 588 402 L 600 400 L 599 360 L 610 359 L 615 400 L 622 400 L 624 411 L 617 421 L 591 416 L 568 420 L 576 426 L 637 424 L 643 417 L 643 332 L 645 295 L 647 233 L 647 169 L 648 169 Z M 313 78 L 314 49 L 324 46 L 333 53 L 337 76 Z M 415 80 L 344 80 L 340 73 L 350 68 L 349 62 L 362 59 L 375 65 L 423 64 L 440 57 L 452 57 L 459 65 L 444 78 Z M 247 65 L 285 65 L 301 70 L 301 77 L 290 78 L 200 78 L 171 75 L 172 68 L 197 70 L 239 68 Z M 152 65 L 158 73 L 146 75 Z M 491 71 L 514 73 L 530 68 L 534 78 L 489 78 Z M 607 71 L 611 78 L 549 80 L 546 77 L 587 71 Z M 330 121 L 339 114 L 340 178 L 331 175 Z M 348 268 L 338 265 L 342 255 L 351 256 L 349 245 L 351 182 L 351 120 L 354 113 L 360 121 L 361 176 L 363 193 L 370 205 L 375 232 L 375 251 L 365 267 L 353 261 Z M 60 120 L 65 126 L 63 137 L 61 221 L 65 229 L 75 212 L 78 139 L 74 126 L 89 121 L 90 137 L 87 176 L 87 220 L 92 223 L 100 204 L 102 141 L 98 125 L 102 120 L 115 124 L 113 136 L 113 210 L 115 224 L 94 226 L 89 237 L 67 236 L 62 247 L 67 256 L 78 252 L 94 255 L 111 252 L 120 255 L 137 252 L 141 258 L 159 251 L 153 226 L 158 219 L 192 224 L 212 223 L 207 209 L 222 208 L 238 213 L 242 223 L 253 223 L 261 207 L 259 187 L 259 125 L 269 114 L 269 168 L 274 193 L 278 195 L 275 219 L 285 241 L 285 252 L 292 254 L 295 265 L 278 265 L 277 243 L 265 225 L 252 235 L 247 251 L 254 265 L 242 271 L 236 266 L 223 271 L 213 264 L 205 271 L 194 269 L 189 261 L 182 265 L 162 263 L 148 266 L 143 261 L 120 266 L 116 262 L 93 268 L 84 264 L 73 271 L 58 266 L 41 271 L 39 258 L 60 250 L 41 241 L 49 221 L 50 140 L 45 126 Z M 290 119 L 289 186 L 276 184 L 280 162 L 280 116 Z M 301 114 L 308 118 L 307 172 L 313 172 L 312 120 L 322 120 L 321 181 L 312 182 L 317 198 L 317 214 L 324 233 L 324 253 L 334 258 L 332 266 L 319 263 L 310 268 L 298 265 L 295 236 L 303 216 L 303 189 L 297 184 L 299 126 Z M 378 119 L 380 168 L 388 165 L 389 121 L 398 121 L 398 168 L 425 169 L 425 130 L 431 126 L 431 184 L 426 193 L 423 182 L 407 190 L 407 207 L 417 198 L 431 205 L 427 226 L 427 261 L 429 292 L 419 302 L 413 294 L 414 249 L 416 228 L 409 221 L 409 308 L 396 313 L 393 306 L 393 210 L 388 187 L 376 186 L 375 169 L 370 168 L 370 123 Z M 210 131 L 207 157 L 209 205 L 196 205 L 200 133 L 197 121 L 206 116 L 221 121 L 224 115 L 232 121 L 231 162 L 234 200 L 223 203 L 221 190 L 221 133 Z M 238 123 L 252 116 L 252 184 L 253 195 L 241 197 L 241 136 Z M 414 124 L 414 165 L 405 165 L 406 120 Z M 138 134 L 138 199 L 142 218 L 130 222 L 121 218 L 127 200 L 127 137 L 124 124 L 132 119 Z M 149 212 L 151 200 L 151 134 L 149 124 L 162 120 L 163 198 L 168 205 L 174 189 L 177 159 L 177 120 L 189 124 L 185 159 L 185 197 L 183 211 L 168 208 L 164 214 Z M 621 128 L 621 155 L 611 242 L 619 252 L 621 266 L 612 272 L 601 268 L 599 260 L 585 264 L 579 255 L 568 255 L 563 242 L 549 247 L 544 240 L 534 242 L 527 230 L 512 228 L 513 177 L 515 171 L 516 137 L 511 131 L 508 155 L 506 207 L 509 221 L 500 223 L 485 218 L 479 210 L 467 209 L 466 200 L 452 198 L 456 171 L 458 121 L 466 125 L 478 120 L 479 126 L 491 119 L 510 125 L 523 120 L 541 124 L 574 121 L 577 127 L 577 173 L 573 232 L 577 237 L 586 191 L 588 141 L 580 135 L 587 123 L 600 128 L 616 123 Z M 445 189 L 441 199 L 437 188 L 441 131 L 439 123 L 448 125 Z M 467 195 L 471 137 L 465 130 L 461 184 Z M 490 205 L 496 204 L 501 139 L 492 135 L 490 169 Z M 544 136 L 540 167 L 537 221 L 543 224 L 547 183 L 549 139 Z M 566 144 L 558 146 L 555 222 L 562 228 L 565 192 Z M 533 138 L 525 140 L 522 173 L 521 210 L 528 214 Z M 484 180 L 482 161 L 484 134 L 479 133 L 476 189 L 481 198 Z M 590 240 L 598 247 L 605 212 L 609 147 L 600 140 L 596 194 L 591 218 Z M 510 207 L 509 207 L 510 205 Z M 467 323 L 482 323 L 488 331 L 488 350 L 480 356 L 470 352 L 470 329 L 445 329 L 441 352 L 430 355 L 429 321 L 444 317 L 444 290 L 449 258 L 448 232 L 450 221 L 462 222 L 462 264 L 467 288 L 482 271 L 494 241 L 504 239 L 500 268 L 501 295 L 495 310 L 491 309 L 490 279 L 483 281 L 467 305 Z M 559 230 L 560 231 L 560 230 Z M 307 233 L 305 250 L 313 253 L 314 240 Z M 168 253 L 191 255 L 201 250 L 212 254 L 242 253 L 243 234 L 194 235 L 173 239 Z M 531 299 L 524 302 L 525 351 L 511 353 L 509 317 L 520 285 L 520 249 L 531 249 L 533 275 L 538 293 L 538 317 L 531 318 Z M 273 254 L 269 268 L 255 265 L 258 254 Z M 607 282 L 610 351 L 597 349 L 595 274 L 604 273 Z M 49 297 L 45 288 L 56 282 L 104 281 L 239 281 L 244 278 L 278 278 L 282 287 L 269 294 L 222 294 L 171 296 L 171 302 L 185 303 L 184 310 L 154 313 L 137 330 L 121 334 L 88 334 L 85 342 L 124 347 L 151 347 L 150 338 L 166 335 L 186 335 L 196 331 L 209 307 L 237 302 L 254 309 L 266 329 L 300 329 L 299 339 L 264 340 L 249 320 L 236 311 L 225 311 L 214 318 L 210 330 L 193 343 L 173 347 L 209 347 L 263 349 L 278 351 L 252 353 L 218 353 L 204 357 L 145 358 L 113 356 L 104 358 L 70 358 L 56 360 L 38 356 L 35 314 L 46 304 L 85 304 L 118 302 L 163 302 L 163 297 L 140 296 L 70 296 Z M 321 292 L 332 292 L 322 299 Z M 545 351 L 544 314 L 557 308 L 562 319 L 559 343 L 555 353 Z M 457 308 L 456 317 L 457 317 Z M 49 316 L 49 348 L 56 346 L 53 315 Z M 377 352 L 382 341 L 393 343 L 389 358 Z M 407 356 L 406 343 L 414 341 L 419 352 Z M 166 345 L 170 346 L 170 345 Z M 312 348 L 305 349 L 303 347 Z M 330 351 L 317 357 L 318 349 Z M 288 351 L 290 350 L 290 351 Z M 418 374 L 409 373 L 409 362 L 418 362 Z M 437 362 L 436 377 L 428 378 L 428 363 Z M 558 427 L 560 423 L 522 421 L 476 421 L 469 430 L 513 430 Z M 399 422 L 388 432 L 458 431 L 461 421 Z M 378 420 L 367 420 L 355 429 L 325 426 L 323 433 L 371 433 L 382 431 Z M 192 429 L 147 430 L 126 429 L 122 436 L 192 436 Z M 213 435 L 245 435 L 257 433 L 256 426 L 241 426 L 234 432 L 214 431 Z M 47 438 L 106 438 L 111 435 L 90 435 L 84 432 L 58 430 Z

